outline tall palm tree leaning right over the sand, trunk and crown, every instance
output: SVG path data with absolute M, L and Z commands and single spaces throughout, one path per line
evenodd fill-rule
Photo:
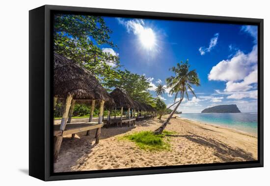
M 184 96 L 186 95 L 189 99 L 188 90 L 196 97 L 196 94 L 193 92 L 191 85 L 200 86 L 200 80 L 198 78 L 196 70 L 189 71 L 188 61 L 185 63 L 181 62 L 181 64 L 177 63 L 176 67 L 172 67 L 170 70 L 175 73 L 175 76 L 171 76 L 166 79 L 167 88 L 171 88 L 170 93 L 175 93 L 174 102 L 176 101 L 178 95 L 180 96 L 180 100 L 177 101 L 177 105 L 170 113 L 169 117 L 165 120 L 165 122 L 154 131 L 155 134 L 162 133 L 162 131 L 172 118 L 173 114 L 183 101 Z

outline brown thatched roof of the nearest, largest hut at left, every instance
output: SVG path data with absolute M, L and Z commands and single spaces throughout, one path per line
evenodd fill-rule
M 112 101 L 107 91 L 87 69 L 54 52 L 54 95 L 74 99 Z

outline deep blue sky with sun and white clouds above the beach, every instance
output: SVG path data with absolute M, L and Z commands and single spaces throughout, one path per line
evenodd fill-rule
M 179 111 L 198 113 L 218 104 L 237 104 L 242 112 L 257 112 L 257 27 L 104 17 L 118 48 L 102 45 L 104 52 L 120 57 L 124 68 L 145 74 L 150 93 L 173 73 L 169 68 L 189 60 L 201 86 L 193 87 Z M 169 89 L 162 96 L 173 103 Z

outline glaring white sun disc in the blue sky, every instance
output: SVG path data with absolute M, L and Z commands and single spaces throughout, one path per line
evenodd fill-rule
M 144 48 L 152 50 L 156 44 L 156 35 L 152 29 L 144 29 L 139 34 L 139 40 Z

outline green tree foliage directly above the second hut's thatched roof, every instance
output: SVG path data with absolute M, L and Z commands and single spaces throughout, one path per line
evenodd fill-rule
M 148 90 L 151 86 L 145 76 L 131 73 L 128 70 L 117 70 L 117 72 L 119 78 L 109 79 L 105 86 L 124 90 L 133 100 L 154 106 L 154 98 Z

